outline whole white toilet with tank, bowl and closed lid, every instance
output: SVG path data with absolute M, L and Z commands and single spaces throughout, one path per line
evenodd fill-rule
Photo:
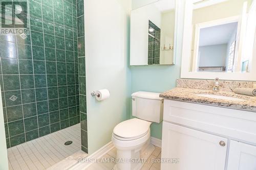
M 136 118 L 118 124 L 112 133 L 117 149 L 115 170 L 140 169 L 139 158 L 148 158 L 154 151 L 150 126 L 163 120 L 163 99 L 160 93 L 138 91 L 132 94 L 132 115 Z

